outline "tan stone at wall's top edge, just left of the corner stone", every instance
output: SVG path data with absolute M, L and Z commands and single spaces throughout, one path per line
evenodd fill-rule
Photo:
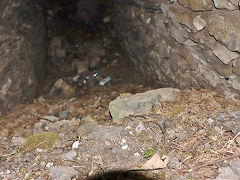
M 178 2 L 194 11 L 206 11 L 214 8 L 212 0 L 178 0 Z

